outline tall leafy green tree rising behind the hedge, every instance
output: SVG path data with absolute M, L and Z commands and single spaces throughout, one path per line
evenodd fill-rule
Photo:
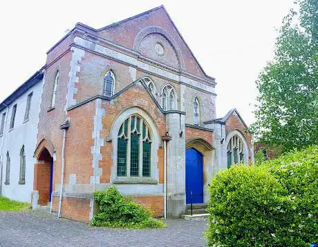
M 283 151 L 318 143 L 318 0 L 297 0 L 283 19 L 274 59 L 261 71 L 251 130 Z

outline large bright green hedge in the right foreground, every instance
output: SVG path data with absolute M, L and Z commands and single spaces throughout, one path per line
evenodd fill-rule
M 308 246 L 318 241 L 318 146 L 212 179 L 209 246 Z

